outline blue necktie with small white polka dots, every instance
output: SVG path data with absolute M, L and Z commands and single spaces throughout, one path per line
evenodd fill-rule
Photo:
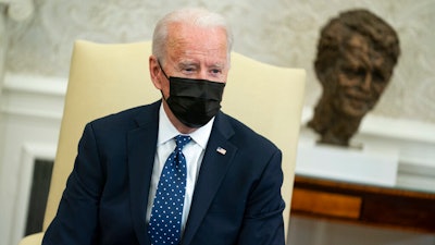
M 182 150 L 190 139 L 183 135 L 175 137 L 176 147 L 160 175 L 148 228 L 152 245 L 179 243 L 186 193 L 186 159 Z

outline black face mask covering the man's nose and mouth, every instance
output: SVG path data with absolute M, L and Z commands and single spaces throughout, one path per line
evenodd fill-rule
M 217 114 L 225 83 L 167 77 L 161 65 L 160 69 L 170 81 L 170 97 L 165 99 L 167 106 L 183 124 L 194 128 L 201 127 Z

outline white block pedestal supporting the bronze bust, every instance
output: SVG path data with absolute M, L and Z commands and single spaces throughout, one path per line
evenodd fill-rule
M 296 173 L 383 186 L 396 184 L 398 150 L 385 145 L 346 148 L 300 140 Z

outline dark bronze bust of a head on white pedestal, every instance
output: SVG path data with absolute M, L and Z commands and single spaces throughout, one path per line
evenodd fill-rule
M 322 28 L 314 69 L 323 94 L 308 123 L 320 143 L 349 146 L 387 86 L 399 54 L 396 32 L 366 10 L 343 12 Z

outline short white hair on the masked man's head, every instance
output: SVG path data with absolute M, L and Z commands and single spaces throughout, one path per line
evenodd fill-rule
M 226 33 L 228 58 L 233 47 L 233 33 L 225 19 L 206 9 L 188 8 L 171 12 L 161 19 L 152 36 L 152 54 L 163 61 L 166 54 L 167 27 L 174 23 L 188 23 L 200 27 L 222 27 Z

